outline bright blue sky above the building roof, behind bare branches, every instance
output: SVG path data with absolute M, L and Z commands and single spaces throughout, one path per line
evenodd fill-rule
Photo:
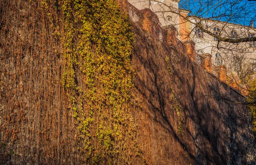
M 180 8 L 192 15 L 228 21 L 241 25 L 256 24 L 256 1 L 247 0 L 181 0 Z

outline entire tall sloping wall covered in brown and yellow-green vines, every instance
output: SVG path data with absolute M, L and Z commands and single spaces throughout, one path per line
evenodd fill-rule
M 209 95 L 243 97 L 150 10 L 3 0 L 0 34 L 0 163 L 255 164 L 247 106 Z

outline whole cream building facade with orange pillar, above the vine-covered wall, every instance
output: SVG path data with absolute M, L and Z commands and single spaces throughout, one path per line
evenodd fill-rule
M 195 61 L 201 64 L 202 58 L 208 58 L 208 71 L 219 77 L 220 72 L 227 74 L 221 78 L 228 83 L 228 79 L 244 81 L 250 75 L 255 77 L 256 72 L 256 44 L 255 42 L 219 42 L 217 38 L 204 33 L 197 28 L 198 22 L 207 31 L 221 37 L 238 39 L 254 37 L 256 28 L 253 22 L 250 26 L 238 25 L 229 22 L 209 20 L 201 17 L 189 16 L 189 11 L 179 8 L 180 0 L 128 0 L 134 7 L 141 10 L 150 8 L 157 14 L 161 26 L 174 26 L 177 30 L 177 39 L 181 42 L 193 42 L 197 55 Z M 246 77 L 247 76 L 247 77 Z M 244 86 L 245 87 L 245 86 Z M 238 88 L 238 87 L 237 87 Z

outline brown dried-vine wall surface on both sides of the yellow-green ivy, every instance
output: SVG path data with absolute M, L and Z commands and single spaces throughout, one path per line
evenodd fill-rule
M 42 2 L 0 1 L 0 163 L 108 164 L 114 156 L 96 160 L 82 152 L 86 143 L 79 140 L 79 123 L 67 89 L 61 84 L 66 60 L 60 37 L 66 30 L 60 19 L 63 16 L 58 4 L 50 3 L 55 7 L 43 10 Z M 113 164 L 255 165 L 256 142 L 247 106 L 213 97 L 236 101 L 244 98 L 193 62 L 186 46 L 175 38 L 173 28 L 161 28 L 150 10 L 139 11 L 126 1 L 120 1 L 120 6 L 131 17 L 134 45 L 129 59 L 134 71 L 129 93 L 132 101 L 122 108 L 128 115 L 118 123 L 125 130 L 134 126 L 136 134 L 128 129 L 123 134 L 127 135 L 125 140 L 115 139 L 116 132 L 103 135 L 110 134 L 117 146 L 114 154 L 123 160 Z M 127 66 L 122 68 L 126 70 Z M 86 76 L 76 75 L 81 89 L 88 89 Z M 104 83 L 96 84 L 101 87 Z M 88 104 L 84 102 L 84 106 Z M 113 109 L 111 105 L 106 111 L 93 109 L 93 115 L 100 117 L 104 112 L 109 115 L 103 116 L 108 121 L 117 115 Z M 84 113 L 90 113 L 87 111 Z M 126 120 L 131 122 L 127 124 Z M 95 117 L 90 128 L 99 121 Z M 99 129 L 90 128 L 90 134 L 99 134 Z M 133 135 L 132 140 L 128 135 Z M 101 145 L 96 135 L 87 142 L 93 140 L 95 146 Z M 108 142 L 106 139 L 103 146 Z M 134 143 L 140 149 L 128 150 Z M 99 154 L 97 149 L 90 154 Z

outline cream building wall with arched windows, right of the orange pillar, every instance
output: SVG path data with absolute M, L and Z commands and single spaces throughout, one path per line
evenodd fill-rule
M 198 18 L 191 18 L 192 22 L 195 22 Z M 227 22 L 218 22 L 215 20 L 207 20 L 203 22 L 204 28 L 208 31 L 213 32 L 213 28 L 218 27 L 220 29 L 220 35 L 222 37 L 231 38 L 232 34 L 231 31 L 236 31 L 238 34 L 238 38 L 247 37 L 248 34 L 256 34 L 256 28 L 236 25 Z M 223 63 L 228 67 L 229 71 L 234 70 L 235 64 L 233 62 L 235 59 L 247 59 L 243 62 L 246 63 L 250 61 L 250 59 L 256 59 L 256 48 L 251 48 L 248 42 L 241 42 L 241 43 L 228 43 L 228 42 L 219 42 L 214 41 L 214 37 L 210 36 L 209 34 L 203 33 L 203 38 L 198 38 L 195 34 L 195 25 L 191 25 L 191 39 L 195 42 L 195 50 L 199 51 L 202 50 L 204 53 L 209 53 L 212 55 L 212 64 L 216 65 L 215 63 L 215 54 L 221 54 L 223 58 Z

